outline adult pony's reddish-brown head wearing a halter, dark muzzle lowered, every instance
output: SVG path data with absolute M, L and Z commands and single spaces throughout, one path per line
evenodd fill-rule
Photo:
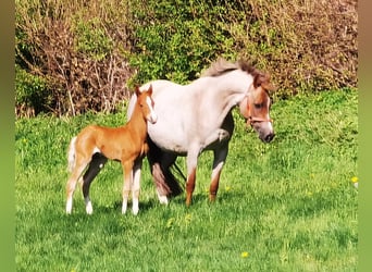
M 249 87 L 247 97 L 239 103 L 240 113 L 247 119 L 247 125 L 251 125 L 259 138 L 270 143 L 275 134 L 273 121 L 270 119 L 271 99 L 269 90 L 274 87 L 270 83 L 268 74 L 253 70 L 253 83 Z

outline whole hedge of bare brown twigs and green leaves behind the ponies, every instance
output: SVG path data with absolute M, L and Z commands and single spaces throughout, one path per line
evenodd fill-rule
M 16 115 L 114 112 L 219 57 L 269 72 L 280 98 L 356 88 L 357 16 L 357 0 L 16 0 Z

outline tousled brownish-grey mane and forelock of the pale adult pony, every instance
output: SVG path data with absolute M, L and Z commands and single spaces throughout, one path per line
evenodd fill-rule
M 274 89 L 270 83 L 270 75 L 259 71 L 246 60 L 238 60 L 237 62 L 233 63 L 226 61 L 225 59 L 218 59 L 201 74 L 201 77 L 220 76 L 234 70 L 241 70 L 250 74 L 253 77 L 255 88 L 262 86 L 266 90 Z

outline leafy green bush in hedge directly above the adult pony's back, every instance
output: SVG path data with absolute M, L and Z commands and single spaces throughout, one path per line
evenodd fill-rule
M 209 1 L 166 0 L 137 2 L 131 64 L 137 82 L 168 78 L 187 83 L 218 55 L 235 58 L 227 25 L 216 21 L 223 7 Z

